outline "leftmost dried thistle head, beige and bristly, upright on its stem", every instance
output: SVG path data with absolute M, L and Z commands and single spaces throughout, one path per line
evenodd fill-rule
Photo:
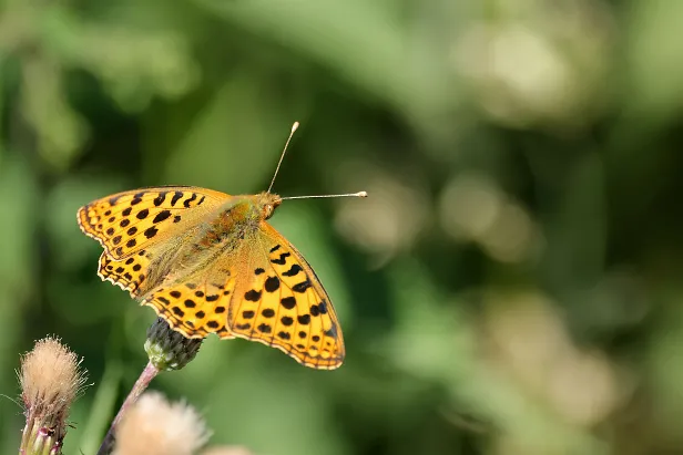
M 81 361 L 52 337 L 38 341 L 21 358 L 18 376 L 27 417 L 21 442 L 23 453 L 60 453 L 69 409 L 86 381 Z

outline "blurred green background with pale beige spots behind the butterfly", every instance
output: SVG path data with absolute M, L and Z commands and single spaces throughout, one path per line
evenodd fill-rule
M 152 387 L 256 454 L 683 453 L 683 2 L 4 0 L 0 392 L 84 358 L 92 454 L 153 311 L 95 275 L 79 206 L 140 186 L 284 204 L 347 360 L 208 339 Z M 0 449 L 21 410 L 0 400 Z M 81 452 L 82 451 L 82 452 Z

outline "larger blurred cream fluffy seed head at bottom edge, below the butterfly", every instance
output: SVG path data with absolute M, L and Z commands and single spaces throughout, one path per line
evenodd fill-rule
M 191 455 L 208 441 L 200 414 L 184 402 L 147 392 L 116 428 L 114 455 Z

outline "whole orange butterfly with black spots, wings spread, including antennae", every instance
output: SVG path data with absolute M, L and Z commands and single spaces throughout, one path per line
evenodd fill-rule
M 231 196 L 194 186 L 118 193 L 78 210 L 100 242 L 98 275 L 152 307 L 186 338 L 216 333 L 277 348 L 297 362 L 332 370 L 344 361 L 329 296 L 302 254 L 267 220 L 285 199 L 268 190 Z

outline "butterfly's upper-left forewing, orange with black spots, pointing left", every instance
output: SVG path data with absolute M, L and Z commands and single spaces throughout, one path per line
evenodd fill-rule
M 186 229 L 230 197 L 192 186 L 133 189 L 81 207 L 78 221 L 111 259 L 121 260 Z

